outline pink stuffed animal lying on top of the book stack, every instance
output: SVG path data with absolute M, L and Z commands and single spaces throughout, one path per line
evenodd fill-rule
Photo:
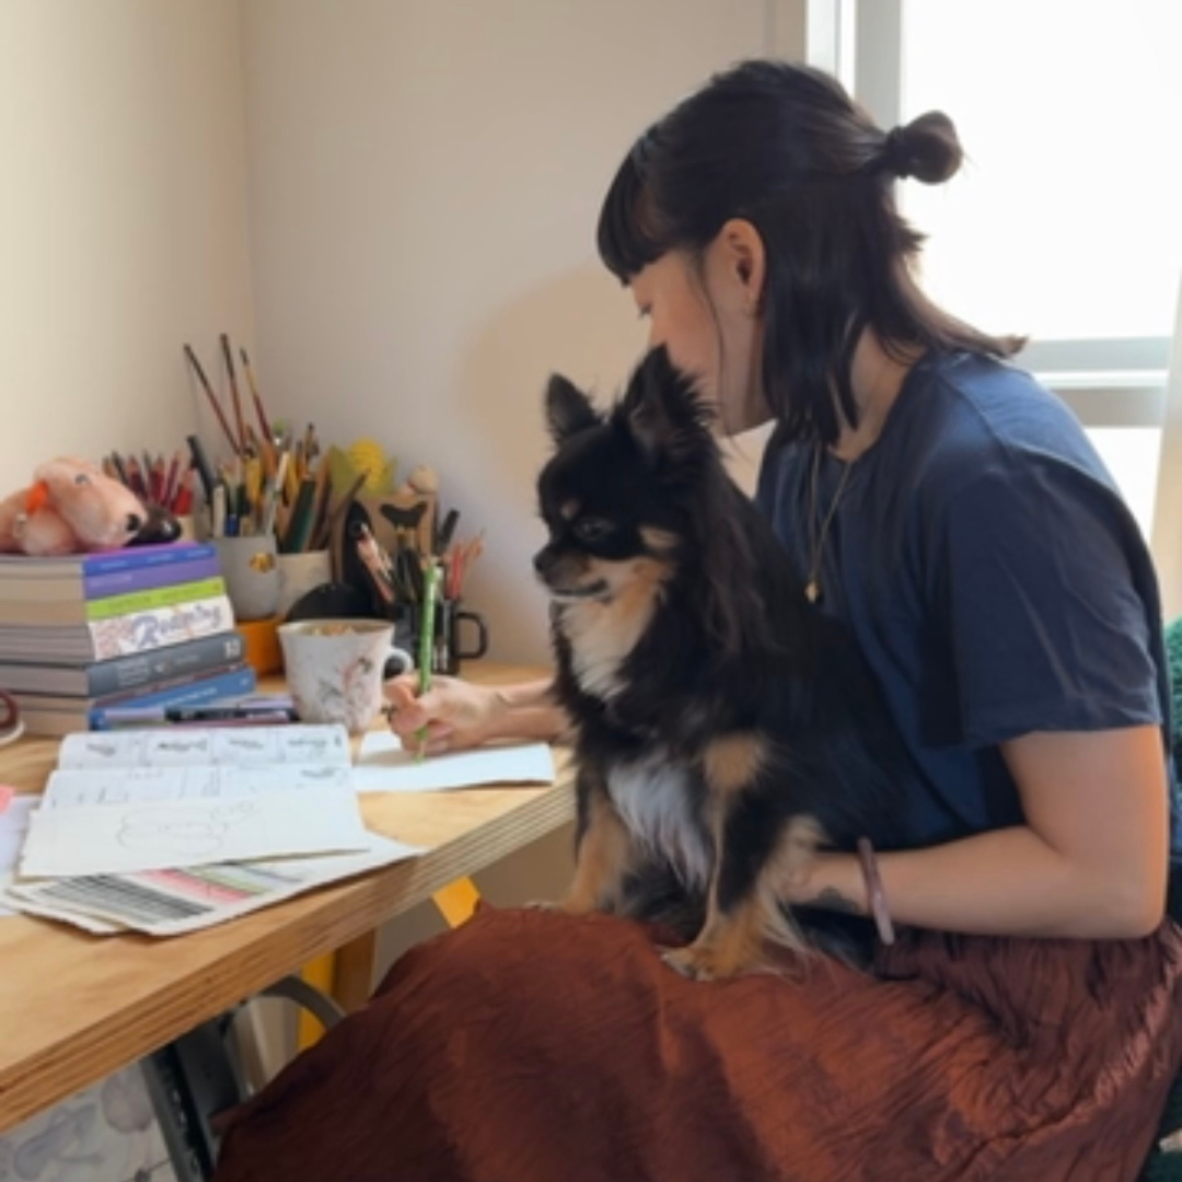
M 99 468 L 85 460 L 51 460 L 33 473 L 28 488 L 0 501 L 0 553 L 119 550 L 147 521 L 139 499 Z

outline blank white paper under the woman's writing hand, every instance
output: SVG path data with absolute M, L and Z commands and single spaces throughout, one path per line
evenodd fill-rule
M 553 784 L 554 756 L 547 743 L 514 743 L 448 752 L 418 759 L 398 736 L 371 730 L 353 767 L 358 792 L 443 792 L 480 784 Z

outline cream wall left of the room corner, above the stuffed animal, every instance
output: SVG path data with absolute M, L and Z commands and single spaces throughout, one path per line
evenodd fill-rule
M 0 494 L 63 453 L 184 442 L 251 339 L 234 0 L 0 4 Z

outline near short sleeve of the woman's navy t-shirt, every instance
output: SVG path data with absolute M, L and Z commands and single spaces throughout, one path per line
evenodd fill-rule
M 963 742 L 1162 721 L 1148 557 L 1111 488 L 1030 457 L 988 468 L 939 515 L 936 616 Z

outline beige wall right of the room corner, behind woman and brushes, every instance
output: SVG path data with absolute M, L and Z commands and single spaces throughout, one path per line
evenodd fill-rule
M 624 151 L 762 51 L 762 0 L 242 0 L 259 366 L 272 413 L 430 462 L 496 654 L 543 658 L 530 558 L 561 369 L 610 394 L 643 343 L 595 223 Z M 786 35 L 779 21 L 778 38 Z

